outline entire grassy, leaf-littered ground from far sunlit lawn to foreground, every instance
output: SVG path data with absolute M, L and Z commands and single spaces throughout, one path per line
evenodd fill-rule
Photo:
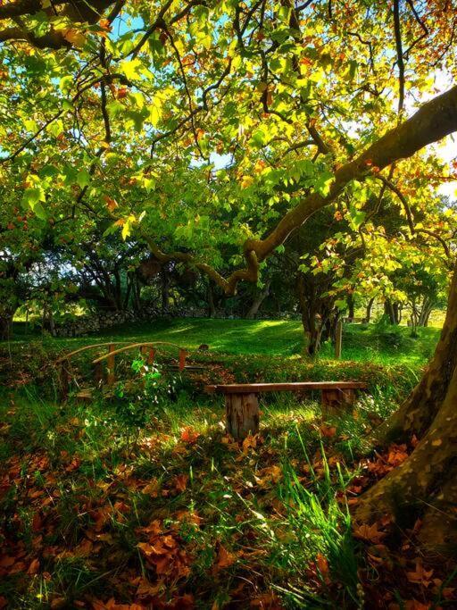
M 100 337 L 19 337 L 1 361 L 0 607 L 457 607 L 455 566 L 423 555 L 420 522 L 392 539 L 382 522 L 350 516 L 411 452 L 414 439 L 372 455 L 366 439 L 437 335 L 350 325 L 344 362 L 330 347 L 311 362 L 299 357 L 298 322 L 129 327 L 102 340 L 206 343 L 209 353 L 191 354 L 204 369 L 154 377 L 132 354 L 114 392 L 65 405 L 55 355 Z M 72 373 L 87 382 L 87 359 Z M 269 397 L 261 434 L 238 445 L 220 397 L 202 392 L 208 380 L 285 379 L 364 379 L 370 394 L 326 418 L 317 397 Z

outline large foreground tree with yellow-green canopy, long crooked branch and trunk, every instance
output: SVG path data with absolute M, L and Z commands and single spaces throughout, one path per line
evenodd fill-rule
M 433 189 L 453 175 L 429 145 L 457 130 L 453 0 L 53 8 L 0 7 L 2 178 L 38 218 L 110 220 L 162 266 L 192 267 L 233 295 L 324 208 L 345 205 L 376 245 L 386 230 L 363 208 L 388 191 L 403 243 L 438 243 L 452 261 Z M 118 33 L 120 11 L 138 28 Z M 453 498 L 455 292 L 453 280 L 436 355 L 389 423 L 424 436 L 362 502 L 363 518 L 392 509 L 394 487 L 423 497 L 440 476 Z

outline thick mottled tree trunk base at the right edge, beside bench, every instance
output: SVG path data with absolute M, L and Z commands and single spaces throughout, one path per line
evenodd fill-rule
M 386 442 L 415 434 L 420 442 L 403 464 L 369 489 L 356 508 L 359 522 L 392 514 L 402 527 L 423 514 L 420 540 L 444 550 L 457 544 L 457 267 L 445 325 L 420 383 L 377 430 Z

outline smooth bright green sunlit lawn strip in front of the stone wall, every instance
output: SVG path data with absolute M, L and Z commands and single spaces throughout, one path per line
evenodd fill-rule
M 12 345 L 36 340 L 15 324 Z M 375 324 L 346 324 L 343 360 L 370 363 L 424 363 L 433 353 L 439 329 L 419 329 L 411 338 L 406 327 L 379 327 Z M 303 327 L 299 321 L 220 320 L 187 318 L 128 324 L 84 338 L 44 338 L 49 349 L 76 349 L 101 340 L 171 341 L 189 350 L 207 344 L 212 352 L 232 355 L 280 355 L 296 357 L 303 353 Z M 333 359 L 333 347 L 324 345 L 320 360 Z

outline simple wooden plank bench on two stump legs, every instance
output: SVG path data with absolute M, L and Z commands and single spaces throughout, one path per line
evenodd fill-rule
M 265 392 L 303 392 L 320 390 L 324 409 L 352 405 L 355 390 L 366 389 L 361 381 L 299 381 L 295 383 L 232 383 L 206 386 L 210 394 L 220 393 L 225 397 L 227 431 L 234 439 L 245 439 L 259 431 L 258 395 Z

